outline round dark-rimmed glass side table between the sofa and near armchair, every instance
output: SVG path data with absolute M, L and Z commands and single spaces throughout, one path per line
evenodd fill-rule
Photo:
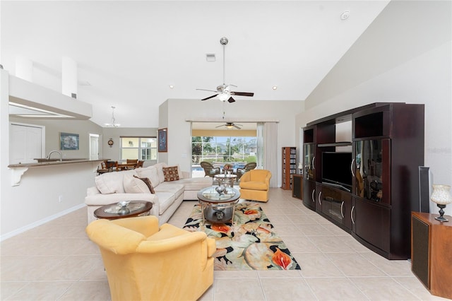
M 110 203 L 94 211 L 96 218 L 116 220 L 118 218 L 132 218 L 134 216 L 148 216 L 153 203 L 150 201 L 123 201 Z

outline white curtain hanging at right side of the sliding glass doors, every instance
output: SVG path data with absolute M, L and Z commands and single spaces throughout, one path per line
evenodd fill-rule
M 263 125 L 263 169 L 270 170 L 270 187 L 278 187 L 278 123 Z

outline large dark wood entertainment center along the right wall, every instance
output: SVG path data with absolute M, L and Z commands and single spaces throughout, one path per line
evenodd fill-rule
M 336 124 L 350 121 L 352 141 L 336 141 Z M 357 107 L 309 122 L 303 138 L 304 205 L 381 256 L 410 258 L 410 216 L 421 211 L 424 105 L 376 102 Z M 322 166 L 323 153 L 334 155 L 341 146 L 352 148 L 350 170 L 334 170 L 338 182 L 325 181 L 322 168 L 343 164 Z

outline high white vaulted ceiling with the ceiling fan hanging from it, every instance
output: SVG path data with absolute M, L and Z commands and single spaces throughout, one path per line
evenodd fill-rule
M 226 83 L 254 92 L 237 102 L 304 100 L 387 4 L 1 1 L 0 64 L 15 75 L 16 57 L 26 57 L 33 82 L 61 91 L 61 58 L 71 57 L 78 100 L 93 105 L 93 122 L 111 122 L 113 105 L 121 126 L 157 127 L 165 100 L 201 100 L 213 93 L 196 88 L 222 84 L 221 37 L 229 40 Z

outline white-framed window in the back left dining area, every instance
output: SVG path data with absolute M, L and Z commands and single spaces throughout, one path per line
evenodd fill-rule
M 157 137 L 121 137 L 121 160 L 157 160 Z

